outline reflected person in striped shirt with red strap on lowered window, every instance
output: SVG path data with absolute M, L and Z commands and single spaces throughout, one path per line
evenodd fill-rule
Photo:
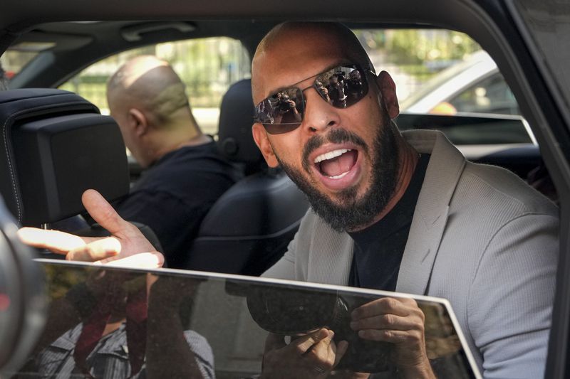
M 98 270 L 72 287 L 63 299 L 51 304 L 48 328 L 22 373 L 162 378 L 159 373 L 172 372 L 184 375 L 168 377 L 214 378 L 212 349 L 205 338 L 183 330 L 180 319 L 177 323 L 170 320 L 180 317 L 181 301 L 157 304 L 151 297 L 149 303 L 154 304 L 147 309 L 147 287 L 155 281 L 147 279 L 151 277 L 145 274 Z M 161 339 L 165 336 L 167 343 Z M 185 361 L 173 365 L 178 355 L 184 355 Z

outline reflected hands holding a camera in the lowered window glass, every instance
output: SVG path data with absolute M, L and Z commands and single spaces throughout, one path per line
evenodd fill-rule
M 377 299 L 355 309 L 351 320 L 351 329 L 361 338 L 398 340 L 393 345 L 390 363 L 400 370 L 404 368 L 400 373 L 402 378 L 434 378 L 430 368 L 423 367 L 423 362 L 418 360 L 418 357 L 427 356 L 427 352 L 424 314 L 414 299 Z M 393 330 L 395 325 L 401 330 Z M 269 333 L 261 378 L 289 378 L 291 373 L 307 378 L 328 378 L 329 375 L 333 378 L 369 378 L 370 373 L 334 370 L 349 348 L 347 341 L 333 341 L 334 336 L 334 331 L 323 327 L 294 338 L 288 344 L 285 336 Z

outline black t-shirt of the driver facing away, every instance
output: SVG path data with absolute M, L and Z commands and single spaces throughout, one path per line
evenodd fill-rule
M 185 146 L 162 156 L 142 173 L 115 208 L 125 220 L 150 226 L 168 267 L 180 267 L 202 219 L 242 173 L 225 161 L 215 142 Z

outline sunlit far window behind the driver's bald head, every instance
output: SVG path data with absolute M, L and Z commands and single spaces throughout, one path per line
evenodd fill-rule
M 76 92 L 108 114 L 108 79 L 120 65 L 142 54 L 156 55 L 172 65 L 185 82 L 192 113 L 207 134 L 217 133 L 219 103 L 229 85 L 251 76 L 249 57 L 242 43 L 225 37 L 197 38 L 112 55 L 81 71 L 60 88 Z

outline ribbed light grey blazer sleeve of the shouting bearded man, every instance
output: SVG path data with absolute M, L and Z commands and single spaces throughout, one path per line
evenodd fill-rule
M 484 378 L 542 378 L 556 277 L 558 219 L 526 214 L 497 230 L 467 299 Z

